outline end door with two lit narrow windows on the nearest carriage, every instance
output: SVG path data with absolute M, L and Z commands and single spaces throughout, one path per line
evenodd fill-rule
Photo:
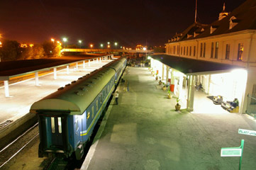
M 51 128 L 52 128 L 52 145 L 63 146 L 61 117 L 51 118 Z

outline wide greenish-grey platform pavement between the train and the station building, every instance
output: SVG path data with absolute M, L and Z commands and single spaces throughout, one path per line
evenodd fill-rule
M 256 130 L 249 115 L 174 111 L 176 98 L 157 88 L 148 68 L 127 67 L 122 78 L 118 105 L 113 98 L 81 170 L 238 169 L 240 157 L 221 157 L 221 147 L 241 140 L 242 169 L 255 169 L 256 137 L 238 134 Z

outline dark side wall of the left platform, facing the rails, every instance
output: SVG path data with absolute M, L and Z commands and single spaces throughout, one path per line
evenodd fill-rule
M 23 117 L 2 128 L 0 130 L 0 149 L 15 140 L 23 132 L 26 132 L 28 128 L 32 127 L 37 122 L 38 118 L 35 114 L 27 113 Z

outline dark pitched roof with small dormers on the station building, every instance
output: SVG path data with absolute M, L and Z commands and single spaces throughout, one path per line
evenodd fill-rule
M 229 29 L 230 18 L 233 16 L 236 18 L 233 21 L 235 21 L 238 24 L 234 26 L 232 29 Z M 216 30 L 214 30 L 212 33 L 211 33 L 211 26 L 213 28 L 216 28 Z M 204 31 L 201 31 L 201 28 L 204 28 Z M 221 21 L 214 21 L 210 25 L 193 23 L 191 26 L 189 26 L 189 28 L 187 28 L 182 32 L 182 38 L 180 38 L 177 41 L 193 40 L 196 38 L 205 38 L 213 35 L 233 33 L 240 30 L 256 30 L 256 1 L 255 0 L 245 1 L 242 5 L 238 6 L 238 8 L 235 8 L 234 11 L 229 13 L 228 16 L 223 18 Z M 187 36 L 187 34 L 193 35 L 194 32 L 198 33 L 200 31 L 201 33 L 196 37 Z

